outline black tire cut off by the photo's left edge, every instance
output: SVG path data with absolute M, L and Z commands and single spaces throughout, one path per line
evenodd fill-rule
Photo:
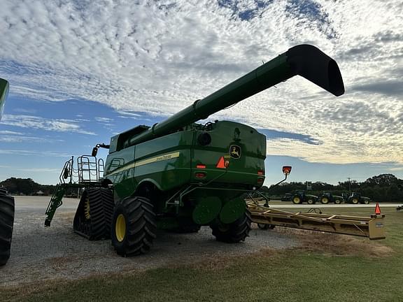
M 8 195 L 5 189 L 0 189 L 0 266 L 10 258 L 14 213 L 14 197 Z

